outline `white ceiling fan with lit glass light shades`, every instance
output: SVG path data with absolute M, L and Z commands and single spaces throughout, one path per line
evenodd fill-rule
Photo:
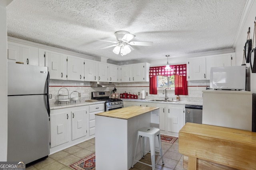
M 136 35 L 129 33 L 128 31 L 116 31 L 115 32 L 116 41 L 108 41 L 102 39 L 94 39 L 98 41 L 106 41 L 110 43 L 115 43 L 114 45 L 110 45 L 108 47 L 104 47 L 102 49 L 107 49 L 110 47 L 115 47 L 113 52 L 115 54 L 126 55 L 134 50 L 131 45 L 140 45 L 140 46 L 152 46 L 153 42 L 147 41 L 131 41 Z

